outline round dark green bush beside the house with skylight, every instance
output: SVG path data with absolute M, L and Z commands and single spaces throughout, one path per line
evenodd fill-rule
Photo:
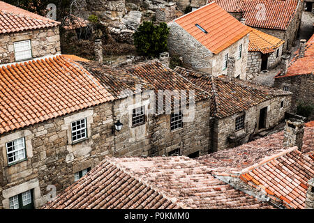
M 137 52 L 145 56 L 158 57 L 167 51 L 167 37 L 169 28 L 165 22 L 154 25 L 152 22 L 143 22 L 133 34 Z

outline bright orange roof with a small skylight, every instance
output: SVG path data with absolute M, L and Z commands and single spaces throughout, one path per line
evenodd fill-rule
M 249 32 L 248 27 L 220 8 L 216 3 L 209 3 L 174 20 L 191 36 L 207 47 L 214 54 L 237 42 Z M 207 31 L 197 28 L 198 24 Z

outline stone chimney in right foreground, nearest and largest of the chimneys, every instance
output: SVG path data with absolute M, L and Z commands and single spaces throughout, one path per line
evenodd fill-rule
M 285 121 L 285 129 L 283 132 L 283 146 L 298 146 L 298 150 L 301 151 L 304 135 L 303 127 L 304 121 L 297 118 L 287 119 Z

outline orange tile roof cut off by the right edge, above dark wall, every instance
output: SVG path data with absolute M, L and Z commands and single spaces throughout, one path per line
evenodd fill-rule
M 292 77 L 297 75 L 314 75 L 314 35 L 306 43 L 304 57 L 299 58 L 299 51 L 290 62 L 285 75 L 279 73 L 275 78 Z

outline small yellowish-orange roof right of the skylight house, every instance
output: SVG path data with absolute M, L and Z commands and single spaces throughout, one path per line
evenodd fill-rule
M 248 51 L 258 51 L 262 54 L 274 52 L 276 48 L 285 43 L 284 40 L 271 36 L 257 29 L 252 29 L 249 36 Z

